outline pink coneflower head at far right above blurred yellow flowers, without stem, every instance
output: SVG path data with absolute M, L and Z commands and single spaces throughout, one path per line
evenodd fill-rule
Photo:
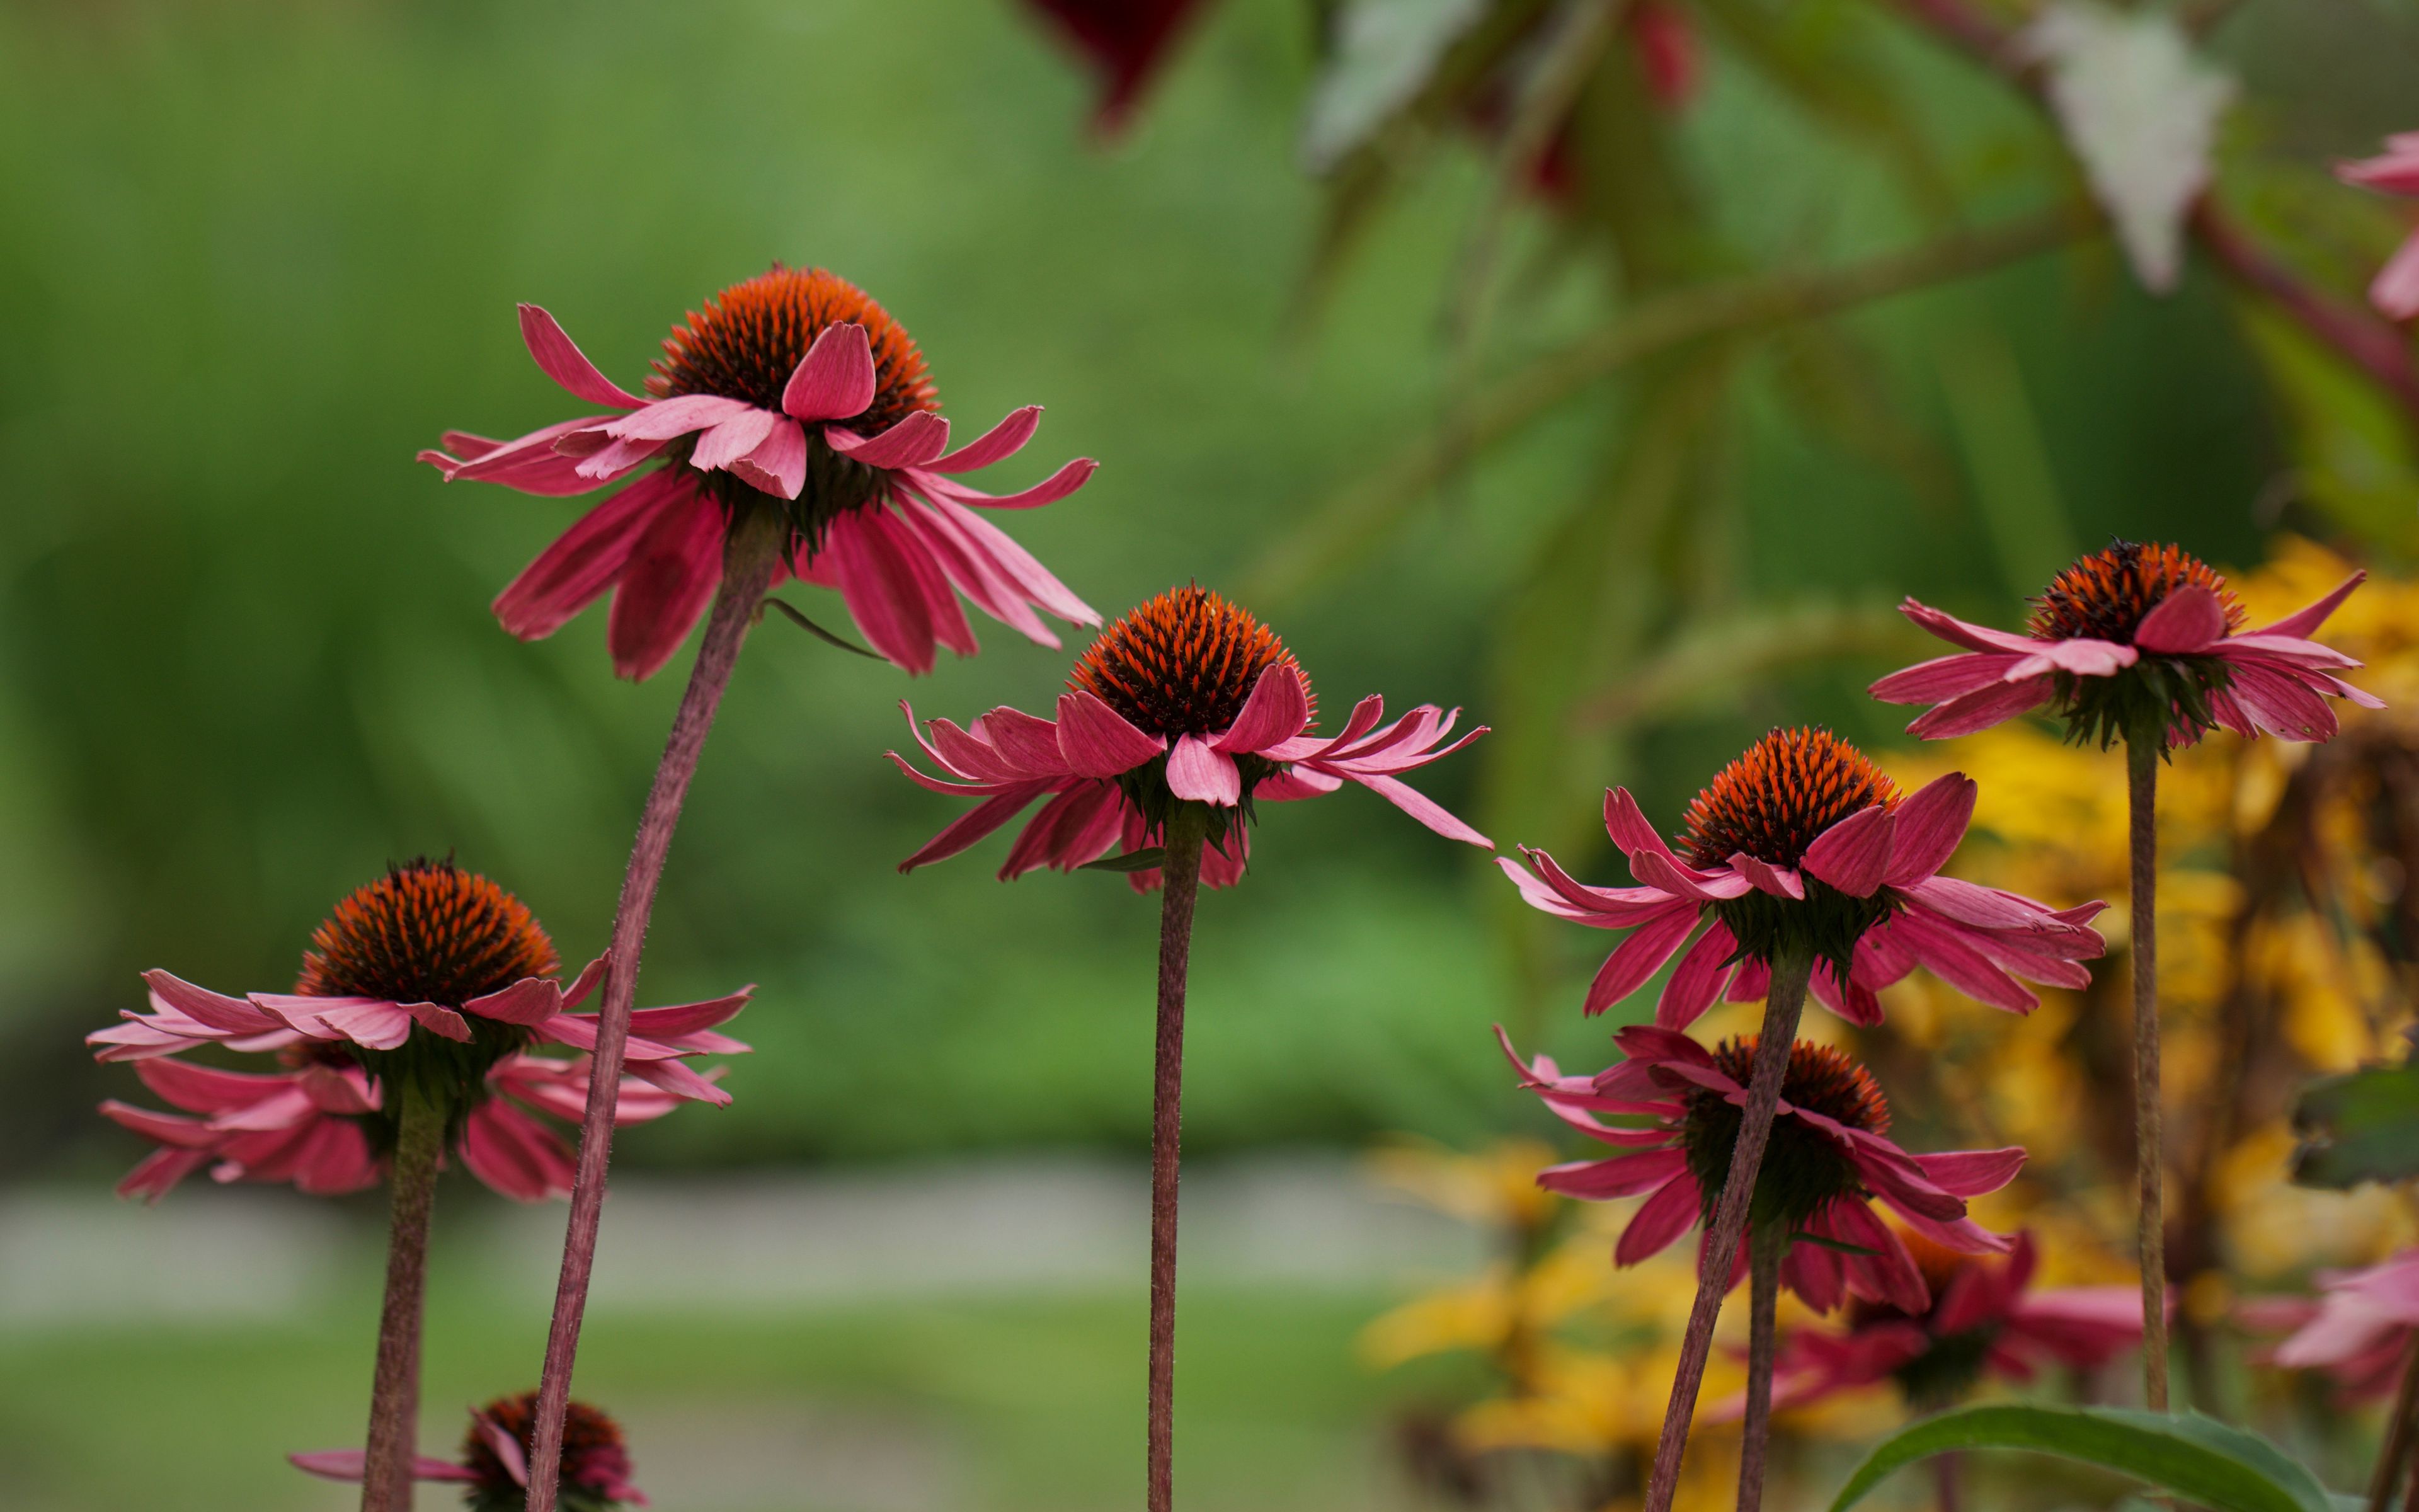
M 2209 731 L 2332 740 L 2329 697 L 2383 704 L 2334 673 L 2354 658 L 2310 636 L 2368 573 L 2315 605 L 2245 631 L 2240 600 L 2182 547 L 2117 542 L 2076 561 L 2034 600 L 2025 634 L 1967 624 L 1916 600 L 1909 619 L 1952 646 L 1872 685 L 1884 704 L 1933 704 L 1906 726 L 1926 740 L 1969 735 L 2044 704 L 2076 743 L 2192 745 Z

